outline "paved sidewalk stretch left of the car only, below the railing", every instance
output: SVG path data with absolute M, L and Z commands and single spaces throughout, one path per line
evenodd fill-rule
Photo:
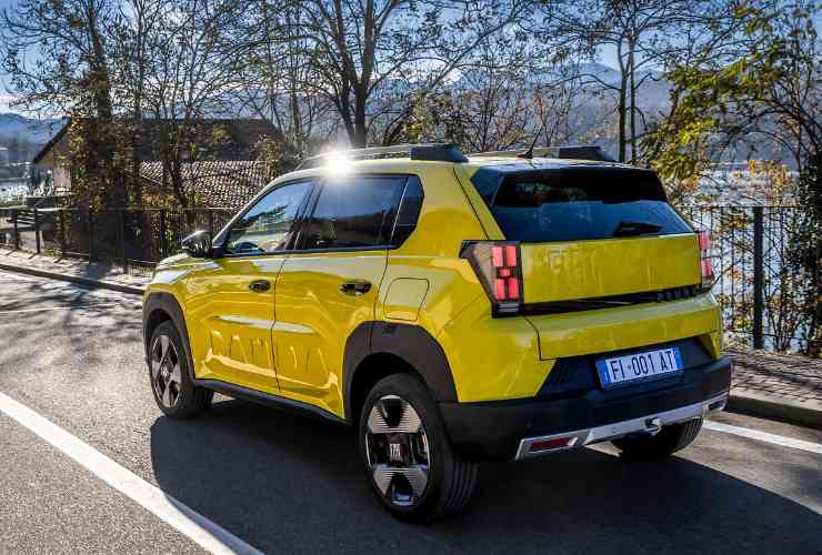
M 54 256 L 12 251 L 6 248 L 0 248 L 0 270 L 66 280 L 137 295 L 142 295 L 146 285 L 151 281 L 148 275 L 123 273 L 120 266 L 102 263 L 89 264 L 81 259 L 56 259 Z

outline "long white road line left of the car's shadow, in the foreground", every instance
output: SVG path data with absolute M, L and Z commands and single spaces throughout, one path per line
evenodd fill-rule
M 262 552 L 250 546 L 220 525 L 209 521 L 182 502 L 163 493 L 137 474 L 74 437 L 26 405 L 0 393 L 0 412 L 29 428 L 111 487 L 130 497 L 166 524 L 188 536 L 203 549 L 214 554 L 253 554 Z

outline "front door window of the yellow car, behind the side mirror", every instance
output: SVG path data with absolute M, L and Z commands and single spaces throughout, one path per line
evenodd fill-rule
M 260 199 L 231 226 L 225 252 L 261 254 L 283 250 L 291 236 L 297 211 L 311 188 L 310 181 L 289 183 Z

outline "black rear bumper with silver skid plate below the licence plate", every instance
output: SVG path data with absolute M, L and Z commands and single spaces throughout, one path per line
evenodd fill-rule
M 569 438 L 580 447 L 722 410 L 731 386 L 731 363 L 722 357 L 688 369 L 675 379 L 569 398 L 441 403 L 454 448 L 471 461 L 533 456 L 531 445 Z M 555 451 L 555 450 L 554 450 Z

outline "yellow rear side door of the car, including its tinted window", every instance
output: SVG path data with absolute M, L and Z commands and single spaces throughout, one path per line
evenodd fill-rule
M 277 279 L 281 394 L 343 415 L 345 341 L 374 320 L 405 175 L 349 175 L 318 188 Z

